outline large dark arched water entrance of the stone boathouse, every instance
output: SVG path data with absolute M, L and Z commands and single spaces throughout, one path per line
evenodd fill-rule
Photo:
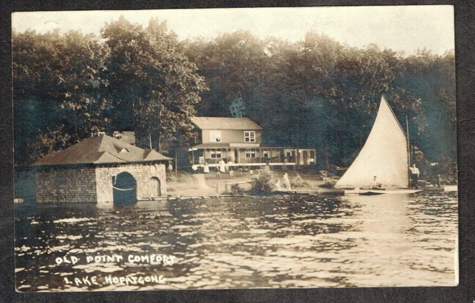
M 133 205 L 137 203 L 137 181 L 128 172 L 112 177 L 112 190 L 115 205 Z

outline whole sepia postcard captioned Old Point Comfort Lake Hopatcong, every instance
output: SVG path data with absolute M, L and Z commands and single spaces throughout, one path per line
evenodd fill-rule
M 453 6 L 12 29 L 19 292 L 458 284 Z

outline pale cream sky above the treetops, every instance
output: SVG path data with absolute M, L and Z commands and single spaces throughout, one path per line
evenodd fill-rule
M 14 12 L 12 28 L 79 29 L 99 35 L 105 22 L 121 15 L 144 26 L 151 18 L 167 20 L 180 39 L 214 38 L 243 29 L 259 38 L 294 42 L 313 30 L 353 47 L 375 43 L 408 55 L 422 48 L 443 54 L 455 47 L 451 5 Z

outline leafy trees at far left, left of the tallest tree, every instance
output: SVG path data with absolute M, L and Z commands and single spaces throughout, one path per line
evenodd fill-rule
M 13 32 L 12 55 L 18 164 L 42 155 L 32 147 L 48 136 L 57 138 L 49 151 L 54 152 L 104 130 L 111 110 L 103 95 L 108 48 L 97 37 L 79 31 Z

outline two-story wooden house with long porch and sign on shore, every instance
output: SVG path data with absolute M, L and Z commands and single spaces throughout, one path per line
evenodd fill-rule
M 249 118 L 194 117 L 196 145 L 190 151 L 192 164 L 214 166 L 221 159 L 235 165 L 301 165 L 311 164 L 314 149 L 299 149 L 295 157 L 292 147 L 271 147 L 262 143 L 262 127 Z M 297 159 L 296 159 L 297 158 Z

